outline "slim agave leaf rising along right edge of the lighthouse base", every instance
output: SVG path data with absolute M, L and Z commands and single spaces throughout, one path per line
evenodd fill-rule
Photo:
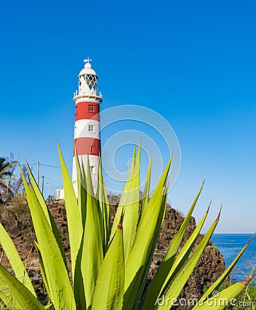
M 108 195 L 106 193 L 106 187 L 104 185 L 104 178 L 101 170 L 101 157 L 99 157 L 99 169 L 98 169 L 98 186 L 97 186 L 97 200 L 100 207 L 100 220 L 101 231 L 103 234 L 103 246 L 104 254 L 107 251 L 108 240 L 110 238 L 110 213 L 108 204 Z

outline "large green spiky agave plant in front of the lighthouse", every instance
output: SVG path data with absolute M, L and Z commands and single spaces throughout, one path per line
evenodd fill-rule
M 164 221 L 168 192 L 167 178 L 172 158 L 150 198 L 151 160 L 149 161 L 144 198 L 139 201 L 140 147 L 138 147 L 137 152 L 133 154 L 128 180 L 111 227 L 101 165 L 99 165 L 97 193 L 94 194 L 90 169 L 85 173 L 77 159 L 77 200 L 60 150 L 59 155 L 66 198 L 71 270 L 67 267 L 57 225 L 28 167 L 31 184 L 28 185 L 24 177 L 23 182 L 37 236 L 35 247 L 39 255 L 41 276 L 50 303 L 43 306 L 37 300 L 35 289 L 21 258 L 12 240 L 0 225 L 1 246 L 14 273 L 13 275 L 0 265 L 2 308 L 24 310 L 48 309 L 49 307 L 56 310 L 171 309 L 219 221 L 218 215 L 194 251 L 195 242 L 208 215 L 208 207 L 195 231 L 179 251 L 204 183 L 178 233 L 170 242 L 166 256 L 155 277 L 145 289 L 155 245 Z M 213 291 L 225 280 L 246 247 L 248 244 L 221 277 L 204 293 L 201 300 L 193 307 L 194 310 L 197 308 L 224 309 L 226 304 L 223 302 L 218 304 L 217 300 L 226 298 L 230 302 L 232 298 L 236 298 L 244 291 L 250 279 L 221 291 L 221 295 L 215 298 L 215 304 L 218 306 L 213 308 L 213 305 L 208 302 L 208 300 L 213 300 Z

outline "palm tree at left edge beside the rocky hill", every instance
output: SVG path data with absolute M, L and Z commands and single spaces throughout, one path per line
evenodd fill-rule
M 8 188 L 10 188 L 10 181 L 12 180 L 12 172 L 10 167 L 16 165 L 17 161 L 12 161 L 11 163 L 4 157 L 0 157 L 0 194 L 8 196 Z M 10 195 L 10 192 L 9 192 Z M 1 196 L 0 196 L 0 199 Z

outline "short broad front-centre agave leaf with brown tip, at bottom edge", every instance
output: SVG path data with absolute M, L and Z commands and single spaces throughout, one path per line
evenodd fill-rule
M 99 271 L 92 310 L 121 310 L 124 296 L 124 242 L 120 223 Z

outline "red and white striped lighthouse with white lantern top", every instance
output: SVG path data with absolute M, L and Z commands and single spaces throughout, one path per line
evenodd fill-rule
M 101 150 L 99 105 L 102 102 L 101 92 L 98 91 L 98 76 L 90 64 L 92 59 L 84 60 L 84 68 L 78 75 L 79 88 L 74 93 L 75 102 L 75 134 L 72 165 L 72 183 L 77 194 L 77 167 L 75 161 L 75 147 L 80 164 L 87 171 L 87 162 L 92 174 L 94 192 L 97 189 L 99 167 L 99 152 Z

